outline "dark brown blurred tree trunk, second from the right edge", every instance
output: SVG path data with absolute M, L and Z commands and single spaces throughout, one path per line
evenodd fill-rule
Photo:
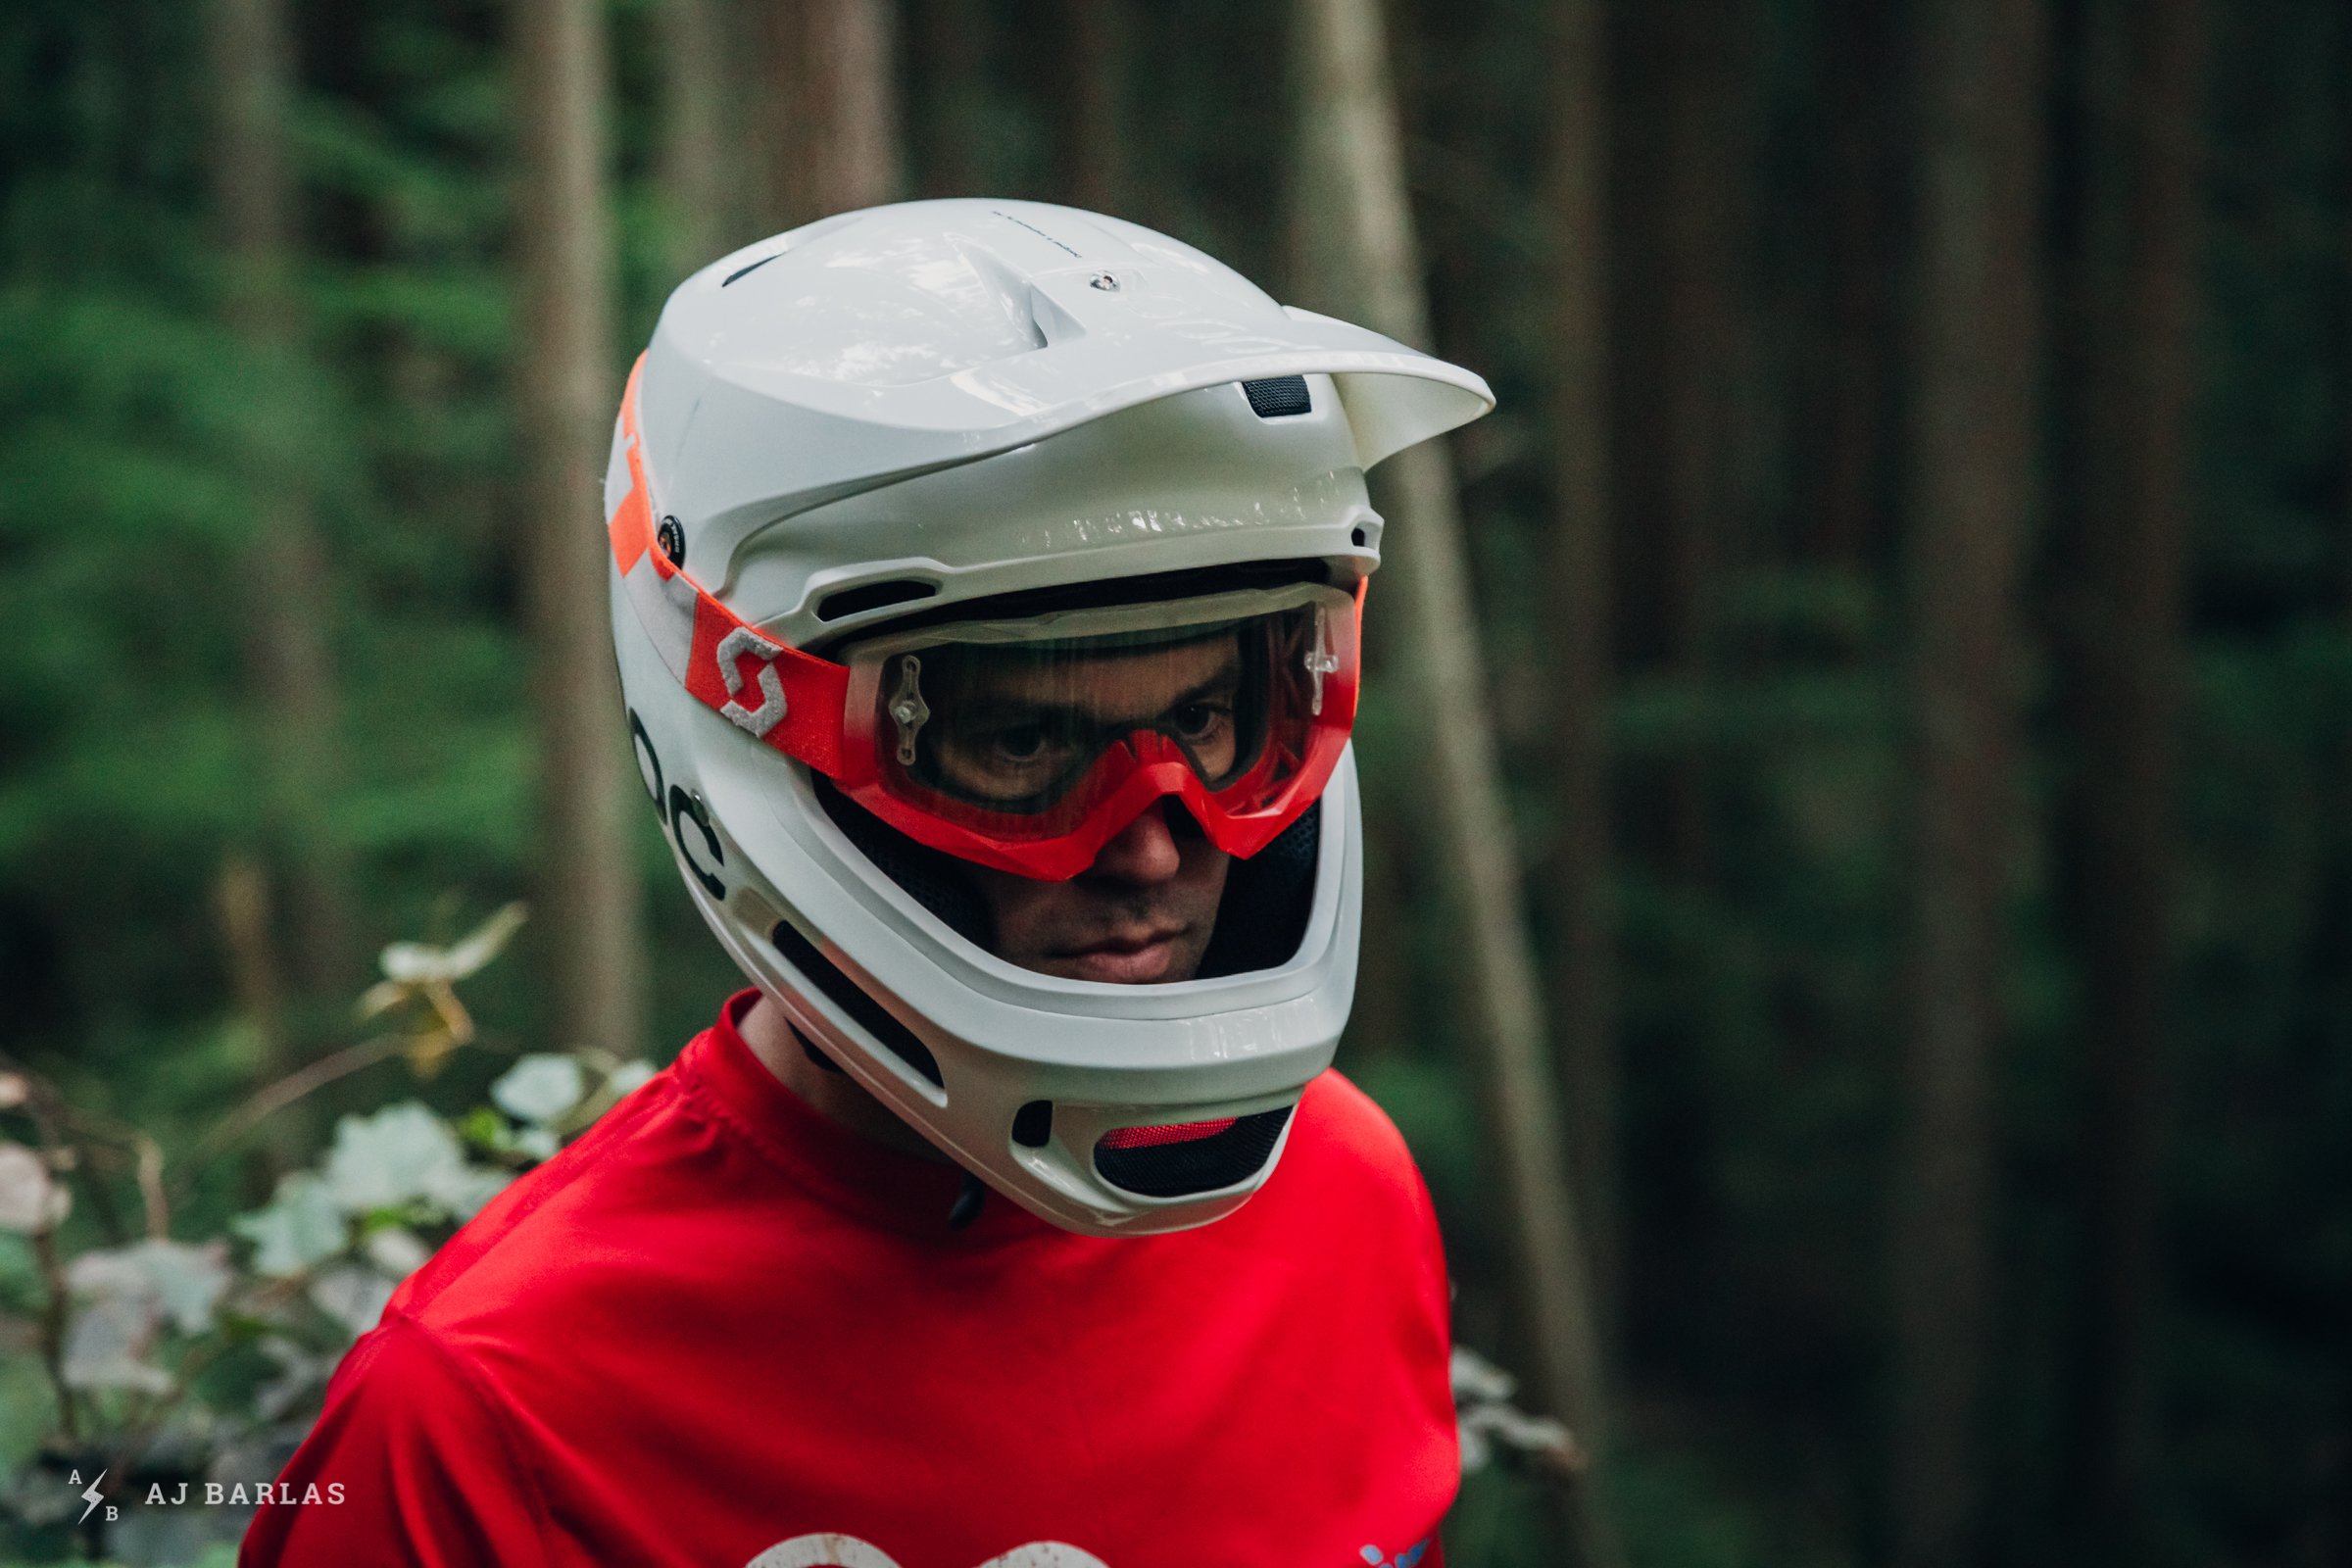
M 2016 846 L 2016 583 L 2034 494 L 2037 0 L 1922 7 L 1919 287 L 1910 454 L 1910 1128 L 1896 1173 L 1891 1526 L 1898 1568 L 1976 1549 Z

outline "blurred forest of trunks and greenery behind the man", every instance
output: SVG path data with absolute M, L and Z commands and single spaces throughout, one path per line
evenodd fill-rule
M 2352 7 L 12 0 L 0 82 L 0 1048 L 176 1171 L 539 910 L 176 1237 L 710 1020 L 534 675 L 628 357 L 811 216 L 1063 200 L 1501 395 L 1381 491 L 1341 1065 L 1595 1462 L 1449 1561 L 2352 1563 Z

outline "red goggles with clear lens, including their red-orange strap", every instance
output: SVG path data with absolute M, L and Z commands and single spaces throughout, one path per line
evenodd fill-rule
M 1322 795 L 1355 722 L 1362 585 L 882 628 L 842 661 L 783 646 L 670 564 L 623 400 L 614 562 L 673 675 L 920 844 L 1065 879 L 1176 797 L 1251 856 Z M 689 625 L 691 621 L 691 625 Z

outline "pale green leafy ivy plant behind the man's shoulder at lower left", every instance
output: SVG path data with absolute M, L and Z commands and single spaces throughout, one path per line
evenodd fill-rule
M 506 910 L 449 947 L 388 947 L 362 1001 L 390 1030 L 383 1053 L 430 1074 L 468 1044 L 452 987 L 515 924 L 520 910 Z M 226 1237 L 111 1241 L 92 1225 L 115 1197 L 96 1157 L 125 1133 L 40 1079 L 0 1074 L 0 1112 L 21 1107 L 40 1135 L 38 1147 L 0 1138 L 0 1552 L 54 1561 L 103 1540 L 141 1563 L 214 1561 L 207 1542 L 240 1530 L 245 1512 L 212 1507 L 205 1483 L 275 1476 L 400 1281 L 649 1077 L 642 1060 L 522 1056 L 489 1105 L 454 1121 L 416 1098 L 343 1117 L 315 1164 L 280 1175 Z M 202 1140 L 186 1159 L 219 1147 Z M 160 1157 L 153 1187 L 141 1182 L 151 1227 L 172 1222 L 169 1173 Z M 113 1476 L 103 1516 L 87 1505 L 99 1476 Z M 198 1502 L 179 1502 L 181 1483 Z

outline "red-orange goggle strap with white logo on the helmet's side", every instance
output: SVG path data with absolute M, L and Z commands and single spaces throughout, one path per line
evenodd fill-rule
M 630 609 L 687 693 L 786 757 L 837 778 L 849 670 L 746 625 L 701 583 L 673 567 L 656 543 L 644 444 L 637 437 L 642 371 L 640 355 L 621 395 L 628 494 L 604 522 Z

